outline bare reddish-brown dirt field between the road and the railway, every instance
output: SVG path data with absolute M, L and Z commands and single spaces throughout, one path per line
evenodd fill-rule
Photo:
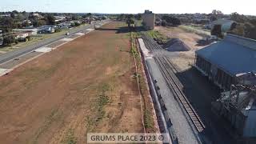
M 129 33 L 111 22 L 0 78 L 0 143 L 143 132 Z

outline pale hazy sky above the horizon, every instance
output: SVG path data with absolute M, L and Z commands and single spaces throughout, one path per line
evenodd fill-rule
M 70 13 L 210 13 L 256 15 L 256 0 L 0 0 L 0 11 L 42 11 Z

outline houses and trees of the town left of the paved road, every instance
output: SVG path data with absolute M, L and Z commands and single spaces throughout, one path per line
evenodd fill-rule
M 0 46 L 11 46 L 38 38 L 37 34 L 54 34 L 62 30 L 106 20 L 104 15 L 46 14 L 26 11 L 0 13 Z

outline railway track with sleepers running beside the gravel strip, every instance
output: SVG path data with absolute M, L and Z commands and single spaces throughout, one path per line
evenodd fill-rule
M 181 102 L 182 106 L 186 110 L 186 113 L 189 115 L 190 120 L 193 122 L 198 132 L 202 132 L 206 128 L 206 126 L 203 124 L 202 120 L 199 118 L 193 106 L 186 98 L 186 95 L 183 93 L 182 83 L 179 81 L 175 74 L 178 73 L 178 70 L 168 58 L 163 56 L 161 52 L 158 52 L 160 49 L 162 50 L 161 46 L 159 46 L 156 42 L 154 42 L 152 38 L 144 33 L 142 33 L 142 38 L 145 42 L 146 47 L 155 53 L 155 61 L 157 62 L 163 76 L 166 78 L 166 82 L 170 90 L 174 92 L 176 98 L 178 98 L 179 102 Z

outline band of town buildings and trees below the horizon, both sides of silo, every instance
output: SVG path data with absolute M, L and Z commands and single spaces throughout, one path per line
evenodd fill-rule
M 48 14 L 26 11 L 0 13 L 0 46 L 13 46 L 38 38 L 39 34 L 53 34 L 94 21 L 127 17 L 142 20 L 142 14 Z M 183 25 L 190 30 L 214 30 L 214 35 L 237 34 L 256 39 L 256 17 L 238 13 L 223 14 L 213 10 L 211 14 L 156 14 L 155 26 Z M 151 26 L 152 27 L 152 26 Z

